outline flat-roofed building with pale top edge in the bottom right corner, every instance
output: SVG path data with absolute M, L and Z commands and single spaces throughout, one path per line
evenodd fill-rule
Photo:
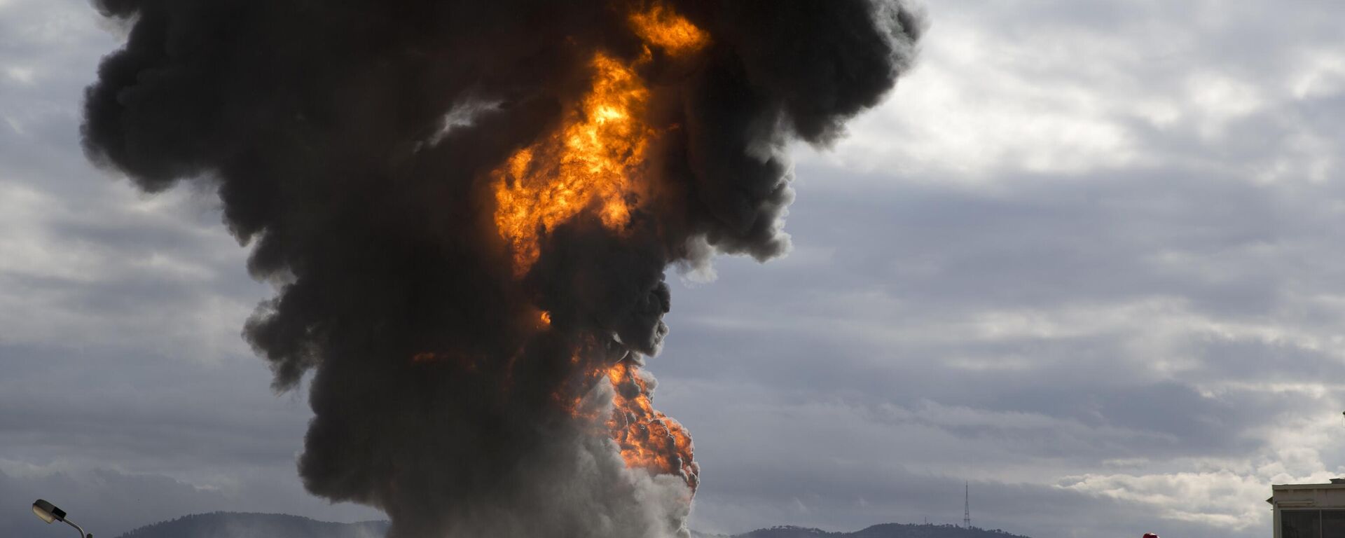
M 1275 538 L 1345 538 L 1345 479 L 1330 484 L 1274 484 Z

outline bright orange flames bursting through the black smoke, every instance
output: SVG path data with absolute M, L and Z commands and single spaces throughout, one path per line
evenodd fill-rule
M 631 30 L 648 46 L 668 55 L 699 51 L 709 36 L 663 4 L 629 16 Z M 537 262 L 546 234 L 581 213 L 596 215 L 603 226 L 620 233 L 642 203 L 640 179 L 650 140 L 658 134 L 644 118 L 650 90 L 636 69 L 652 58 L 648 48 L 635 63 L 623 63 L 604 52 L 590 62 L 593 87 L 561 126 L 542 140 L 516 151 L 491 172 L 495 194 L 495 227 L 512 254 L 515 276 Z M 549 312 L 541 312 L 543 327 Z M 621 360 L 607 364 L 592 359 L 578 346 L 572 363 L 584 386 L 607 377 L 616 394 L 605 424 L 585 408 L 585 398 L 566 389 L 551 394 L 574 420 L 605 425 L 629 468 L 679 475 L 691 491 L 699 484 L 699 468 L 691 460 L 691 436 L 678 421 L 654 410 L 648 381 L 639 364 Z

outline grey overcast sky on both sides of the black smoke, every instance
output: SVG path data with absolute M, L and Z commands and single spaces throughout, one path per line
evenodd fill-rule
M 800 147 L 795 250 L 670 272 L 659 406 L 693 526 L 960 522 L 1263 537 L 1345 475 L 1345 4 L 929 1 L 915 71 Z M 213 194 L 78 144 L 120 30 L 0 0 L 0 535 L 309 498 L 304 394 L 239 338 L 270 289 Z

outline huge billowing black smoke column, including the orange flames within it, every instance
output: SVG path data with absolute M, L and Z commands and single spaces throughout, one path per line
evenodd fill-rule
M 89 156 L 218 187 L 277 285 L 243 334 L 311 377 L 299 471 L 391 537 L 685 534 L 651 408 L 670 264 L 788 249 L 791 140 L 921 31 L 869 0 L 100 0 L 129 26 Z

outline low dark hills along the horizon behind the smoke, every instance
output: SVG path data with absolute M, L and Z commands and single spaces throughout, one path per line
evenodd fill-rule
M 387 522 L 331 523 L 288 514 L 210 512 L 184 515 L 118 538 L 383 538 Z M 1002 530 L 962 529 L 952 525 L 882 523 L 854 533 L 780 526 L 745 534 L 705 534 L 693 538 L 1028 538 Z

